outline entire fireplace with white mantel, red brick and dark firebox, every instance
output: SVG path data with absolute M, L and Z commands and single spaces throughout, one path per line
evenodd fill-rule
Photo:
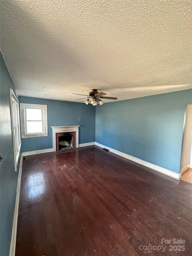
M 79 126 L 51 126 L 53 131 L 53 151 L 70 147 L 78 148 Z

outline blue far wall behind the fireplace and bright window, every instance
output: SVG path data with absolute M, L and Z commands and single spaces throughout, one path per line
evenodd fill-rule
M 81 125 L 79 144 L 95 141 L 95 107 L 91 104 L 22 96 L 19 96 L 19 102 L 47 105 L 48 136 L 23 138 L 21 140 L 22 152 L 52 148 L 51 126 Z

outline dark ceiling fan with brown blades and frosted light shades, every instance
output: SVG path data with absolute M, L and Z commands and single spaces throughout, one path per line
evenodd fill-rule
M 92 92 L 89 92 L 89 95 L 78 94 L 78 93 L 73 93 L 73 94 L 87 96 L 87 99 L 86 98 L 77 99 L 77 100 L 86 99 L 84 103 L 87 105 L 89 103 L 89 99 L 91 98 L 90 103 L 93 106 L 97 106 L 98 103 L 100 103 L 100 105 L 103 105 L 105 102 L 103 102 L 101 99 L 117 100 L 116 97 L 104 97 L 104 95 L 107 95 L 107 94 L 104 92 L 98 92 L 97 89 L 92 89 Z

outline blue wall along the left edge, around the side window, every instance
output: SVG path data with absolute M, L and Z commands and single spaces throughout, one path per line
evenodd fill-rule
M 1 55 L 1 53 L 0 53 Z M 10 249 L 11 233 L 13 226 L 13 215 L 15 209 L 16 187 L 19 174 L 20 157 L 15 171 L 13 137 L 11 128 L 10 113 L 10 92 L 15 87 L 10 78 L 2 55 L 1 61 L 1 79 L 0 79 L 0 151 L 3 160 L 0 166 L 0 191 L 1 191 L 1 237 L 0 237 L 0 255 L 8 256 Z

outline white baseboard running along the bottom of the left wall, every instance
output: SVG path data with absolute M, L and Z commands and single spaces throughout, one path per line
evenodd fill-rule
M 15 256 L 16 235 L 17 235 L 17 220 L 18 220 L 18 211 L 19 211 L 19 194 L 20 194 L 21 173 L 22 173 L 22 163 L 23 163 L 23 155 L 21 154 L 21 161 L 20 161 L 20 166 L 19 166 L 19 176 L 18 176 L 18 181 L 17 181 L 15 211 L 14 211 L 14 217 L 13 217 L 13 228 L 12 228 L 12 234 L 11 234 L 11 243 L 10 243 L 9 256 Z

